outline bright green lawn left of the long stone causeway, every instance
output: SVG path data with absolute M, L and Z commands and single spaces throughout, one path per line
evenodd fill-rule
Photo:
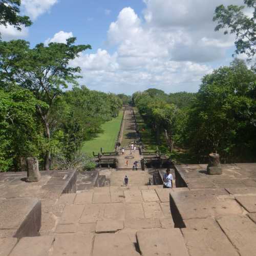
M 112 152 L 115 148 L 115 142 L 122 122 L 123 111 L 119 112 L 118 117 L 113 118 L 111 121 L 105 122 L 101 125 L 101 134 L 98 134 L 95 138 L 85 141 L 82 146 L 82 152 L 88 153 L 90 156 L 100 152 L 100 147 L 103 148 L 103 152 Z

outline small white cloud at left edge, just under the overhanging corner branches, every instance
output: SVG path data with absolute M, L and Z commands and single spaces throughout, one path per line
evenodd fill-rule
M 0 33 L 2 40 L 8 41 L 12 39 L 17 39 L 17 38 L 25 38 L 28 36 L 28 29 L 25 27 L 22 27 L 22 30 L 19 31 L 15 29 L 13 26 L 7 26 L 5 27 L 4 25 L 0 25 Z

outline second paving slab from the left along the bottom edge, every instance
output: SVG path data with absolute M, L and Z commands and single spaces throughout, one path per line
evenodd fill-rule
M 19 240 L 10 256 L 48 256 L 53 236 L 26 237 Z

